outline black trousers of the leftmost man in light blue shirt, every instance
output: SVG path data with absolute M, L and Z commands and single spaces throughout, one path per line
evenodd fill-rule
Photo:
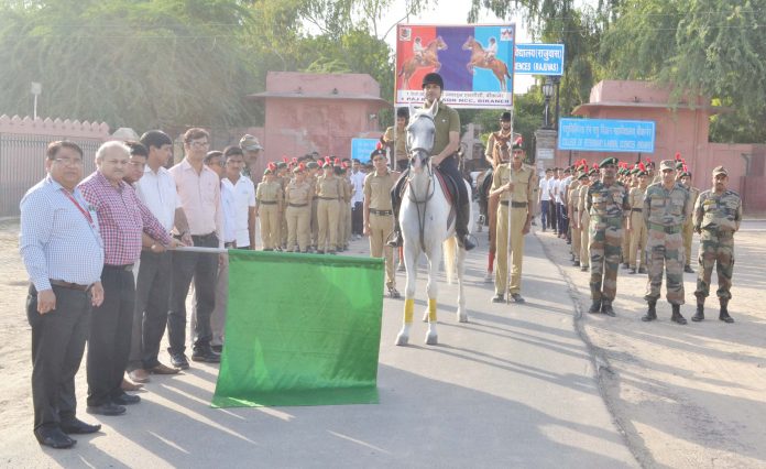
M 57 427 L 75 417 L 75 374 L 88 338 L 90 293 L 53 286 L 56 309 L 37 313 L 37 291 L 30 285 L 26 319 L 32 327 L 32 404 L 34 429 Z

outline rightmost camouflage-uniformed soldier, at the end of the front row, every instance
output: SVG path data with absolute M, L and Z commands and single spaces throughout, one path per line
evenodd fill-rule
M 697 274 L 697 314 L 691 320 L 704 319 L 704 298 L 710 294 L 710 275 L 715 266 L 719 277 L 719 319 L 734 323 L 729 315 L 734 270 L 734 232 L 742 222 L 742 199 L 729 190 L 729 172 L 723 166 L 713 170 L 713 188 L 700 194 L 694 204 L 694 231 L 700 233 L 699 273 Z

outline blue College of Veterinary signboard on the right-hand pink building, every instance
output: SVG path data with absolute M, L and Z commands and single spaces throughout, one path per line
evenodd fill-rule
M 652 120 L 561 119 L 559 150 L 586 152 L 654 153 Z

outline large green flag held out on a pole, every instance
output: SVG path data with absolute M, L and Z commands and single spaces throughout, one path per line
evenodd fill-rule
M 229 251 L 214 407 L 377 403 L 383 260 Z

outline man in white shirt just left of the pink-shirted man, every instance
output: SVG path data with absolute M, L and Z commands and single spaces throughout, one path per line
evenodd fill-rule
M 135 183 L 135 194 L 167 230 L 176 227 L 182 241 L 189 244 L 188 222 L 180 208 L 173 176 L 164 167 L 173 156 L 173 140 L 161 130 L 141 137 L 149 151 L 143 176 Z M 149 244 L 149 246 L 147 246 Z M 149 381 L 150 373 L 174 374 L 178 370 L 160 362 L 160 341 L 165 335 L 171 288 L 171 253 L 162 244 L 144 242 L 135 282 L 135 310 L 141 317 L 141 340 L 131 345 L 128 375 L 134 382 Z

